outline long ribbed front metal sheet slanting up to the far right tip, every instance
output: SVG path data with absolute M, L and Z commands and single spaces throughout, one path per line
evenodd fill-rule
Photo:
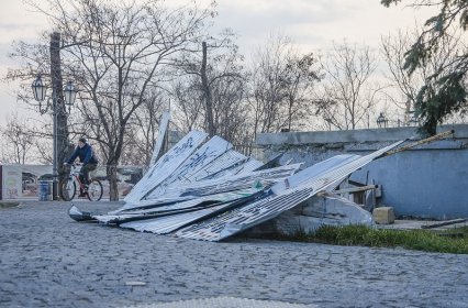
M 296 207 L 319 191 L 336 187 L 354 170 L 363 167 L 401 143 L 402 142 L 397 142 L 382 150 L 358 158 L 356 158 L 356 156 L 343 157 L 344 161 L 338 165 L 332 165 L 330 164 L 330 161 L 319 163 L 310 167 L 308 170 L 310 175 L 314 176 L 304 176 L 301 174 L 302 172 L 292 176 L 292 178 L 296 177 L 296 179 L 292 180 L 296 185 L 294 187 L 291 188 L 288 184 L 286 184 L 285 190 L 281 190 L 279 187 L 274 187 L 275 189 L 271 189 L 271 195 L 263 198 L 261 200 L 236 208 L 231 212 L 222 213 L 212 219 L 186 227 L 176 232 L 176 235 L 180 238 L 207 241 L 220 241 L 234 235 L 277 217 L 281 212 Z M 277 191 L 277 194 L 274 194 L 274 190 Z

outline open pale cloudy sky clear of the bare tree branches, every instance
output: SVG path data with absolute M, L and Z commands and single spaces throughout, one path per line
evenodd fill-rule
M 119 1 L 119 0 L 116 0 Z M 183 3 L 183 0 L 166 0 Z M 198 3 L 208 3 L 199 0 Z M 414 28 L 427 19 L 428 11 L 404 6 L 385 8 L 380 0 L 218 0 L 215 29 L 231 28 L 238 36 L 241 52 L 248 58 L 271 33 L 290 36 L 304 51 L 326 50 L 332 42 L 346 38 L 378 48 L 380 36 L 398 29 Z M 44 16 L 27 11 L 22 0 L 0 0 L 0 79 L 14 63 L 8 58 L 13 41 L 34 42 L 47 30 Z M 219 32 L 215 30 L 216 32 Z M 32 81 L 32 80 L 31 80 Z M 0 80 L 0 125 L 18 111 L 15 85 Z

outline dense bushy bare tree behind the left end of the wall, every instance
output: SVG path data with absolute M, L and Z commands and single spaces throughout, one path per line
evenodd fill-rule
M 299 128 L 312 113 L 311 89 L 319 80 L 313 54 L 298 53 L 289 37 L 271 37 L 254 59 L 249 99 L 254 132 Z

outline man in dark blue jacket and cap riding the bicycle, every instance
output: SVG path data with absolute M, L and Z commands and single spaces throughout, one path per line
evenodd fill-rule
M 78 146 L 75 148 L 75 152 L 71 154 L 70 158 L 67 160 L 65 164 L 71 165 L 76 158 L 79 158 L 79 162 L 82 164 L 79 172 L 79 178 L 85 186 L 85 191 L 80 189 L 79 197 L 86 196 L 86 188 L 89 184 L 89 172 L 96 169 L 98 166 L 98 160 L 94 156 L 91 145 L 89 145 L 85 138 L 78 140 Z

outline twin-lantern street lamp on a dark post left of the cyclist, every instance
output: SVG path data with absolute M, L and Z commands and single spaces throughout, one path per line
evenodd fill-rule
M 41 102 L 45 99 L 45 85 L 42 81 L 41 75 L 32 84 L 34 99 L 40 102 L 40 111 L 41 113 L 47 112 L 51 107 L 47 102 L 46 108 L 41 109 Z M 65 92 L 65 102 L 68 106 L 68 110 L 70 110 L 71 106 L 75 102 L 77 88 L 74 86 L 71 81 L 67 82 L 67 86 L 64 89 Z M 54 139 L 54 151 L 53 151 L 53 199 L 57 200 L 57 94 L 55 87 L 52 87 L 52 112 L 54 116 L 54 127 L 53 127 L 53 139 Z

